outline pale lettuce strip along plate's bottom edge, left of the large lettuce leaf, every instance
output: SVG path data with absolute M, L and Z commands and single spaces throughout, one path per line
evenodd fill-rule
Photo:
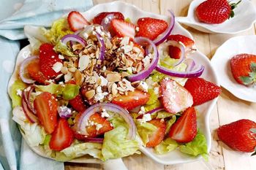
M 61 150 L 61 153 L 64 153 L 64 155 L 67 157 L 66 159 L 69 159 L 69 160 L 73 158 L 78 158 L 83 155 L 91 155 L 94 158 L 103 159 L 101 150 L 102 150 L 102 144 L 85 142 L 80 144 L 74 144 L 70 147 L 67 147 L 64 150 Z M 64 156 L 57 154 L 56 159 L 64 160 Z

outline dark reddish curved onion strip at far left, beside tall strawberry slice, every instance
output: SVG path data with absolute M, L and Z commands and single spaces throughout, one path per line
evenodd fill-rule
M 23 109 L 26 117 L 28 118 L 28 120 L 31 123 L 38 123 L 37 116 L 34 115 L 34 113 L 29 110 L 29 107 L 28 107 L 28 93 L 29 92 L 27 90 L 23 90 L 23 92 L 22 92 L 22 102 L 21 102 L 22 109 Z

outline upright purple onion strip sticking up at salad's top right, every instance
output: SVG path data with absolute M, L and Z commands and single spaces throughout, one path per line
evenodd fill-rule
M 167 39 L 167 37 L 170 35 L 171 31 L 173 31 L 173 27 L 174 27 L 174 23 L 175 23 L 175 16 L 174 16 L 173 11 L 171 11 L 170 9 L 168 10 L 168 12 L 170 12 L 170 24 L 164 33 L 157 36 L 157 39 L 154 39 L 153 42 L 155 45 L 159 45 L 162 42 L 164 42 L 165 39 Z

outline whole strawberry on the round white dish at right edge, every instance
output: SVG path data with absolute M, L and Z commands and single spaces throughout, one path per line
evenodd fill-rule
M 251 85 L 256 82 L 256 55 L 238 54 L 231 58 L 231 72 L 241 85 Z

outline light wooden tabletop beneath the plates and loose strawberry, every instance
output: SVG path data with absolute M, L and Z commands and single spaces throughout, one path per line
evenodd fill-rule
M 111 0 L 94 0 L 94 4 L 108 2 Z M 140 7 L 148 12 L 154 12 L 161 15 L 167 15 L 167 9 L 173 9 L 176 16 L 186 16 L 189 3 L 192 0 L 126 0 L 135 6 Z M 256 5 L 256 0 L 252 0 Z M 192 34 L 195 39 L 197 48 L 204 53 L 208 58 L 212 58 L 217 48 L 222 45 L 230 37 L 238 35 L 254 35 L 256 27 L 244 31 L 241 34 L 227 35 L 227 34 L 206 34 L 197 31 L 193 28 L 184 26 Z M 256 94 L 252 94 L 256 95 Z M 132 155 L 124 158 L 124 163 L 129 170 L 203 170 L 203 169 L 225 169 L 225 170 L 255 170 L 256 169 L 256 156 L 250 157 L 249 154 L 235 152 L 230 150 L 225 144 L 219 142 L 215 130 L 219 125 L 233 122 L 242 118 L 256 121 L 256 104 L 247 101 L 242 101 L 236 98 L 222 88 L 222 94 L 217 101 L 217 106 L 211 112 L 211 134 L 213 142 L 211 152 L 209 154 L 208 163 L 197 161 L 194 163 L 185 163 L 175 166 L 164 166 L 159 163 L 151 161 L 145 155 Z M 97 164 L 78 164 L 66 163 L 66 170 L 99 170 L 102 169 L 101 165 Z M 115 167 L 113 167 L 115 169 Z M 117 170 L 117 169 L 115 169 Z

